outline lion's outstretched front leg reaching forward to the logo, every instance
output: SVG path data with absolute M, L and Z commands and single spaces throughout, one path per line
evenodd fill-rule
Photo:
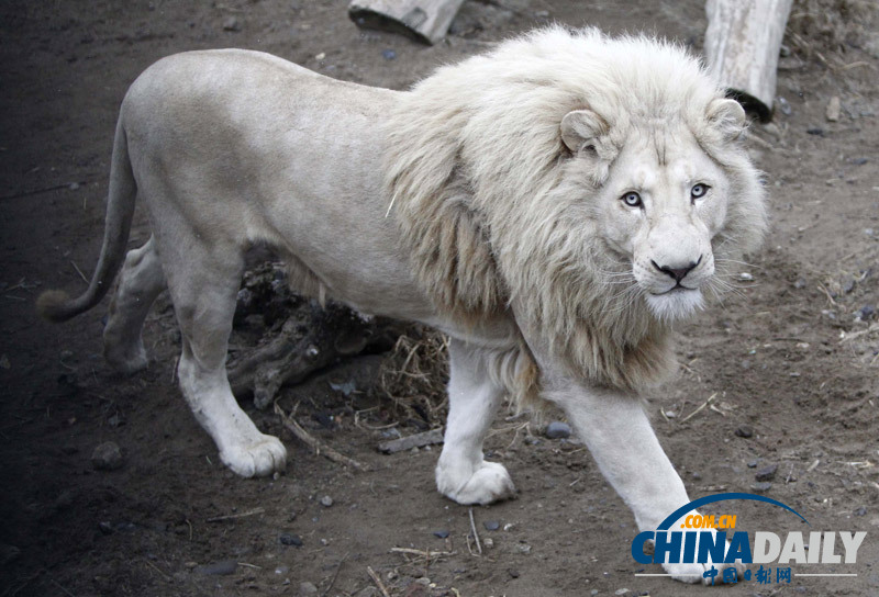
M 655 531 L 667 516 L 690 502 L 637 397 L 570 380 L 554 380 L 547 385 L 546 397 L 565 409 L 604 477 L 632 509 L 641 531 Z M 680 522 L 672 523 L 671 529 L 680 529 Z M 721 583 L 725 567 L 735 565 L 739 574 L 743 572 L 741 564 L 713 565 L 721 571 L 715 584 Z M 711 566 L 712 563 L 663 564 L 677 581 L 705 584 L 711 579 L 702 573 Z

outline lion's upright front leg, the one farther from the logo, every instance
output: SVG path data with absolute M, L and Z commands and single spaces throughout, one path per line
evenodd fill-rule
M 503 388 L 491 382 L 479 349 L 453 339 L 448 356 L 448 421 L 436 464 L 436 486 L 458 504 L 490 504 L 512 497 L 515 487 L 507 469 L 482 455 L 482 441 Z

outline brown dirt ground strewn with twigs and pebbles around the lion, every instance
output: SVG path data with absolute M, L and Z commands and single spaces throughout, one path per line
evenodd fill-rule
M 581 444 L 549 440 L 527 419 L 501 416 L 488 440 L 521 493 L 472 509 L 483 552 L 471 554 L 469 509 L 434 488 L 438 447 L 376 450 L 430 425 L 375 391 L 381 356 L 343 362 L 281 399 L 288 410 L 299 403 L 313 436 L 371 472 L 327 461 L 246 404 L 285 440 L 290 466 L 245 481 L 219 463 L 178 393 L 179 335 L 166 298 L 146 325 L 154 361 L 132 378 L 102 360 L 105 304 L 63 326 L 35 317 L 42 290 L 85 288 L 79 270 L 90 274 L 100 247 L 119 102 L 162 56 L 246 47 L 402 89 L 550 20 L 655 31 L 694 52 L 705 27 L 701 0 L 468 1 L 448 40 L 425 47 L 358 31 L 346 4 L 0 3 L 0 596 L 308 595 L 303 583 L 314 595 L 379 595 L 368 568 L 407 597 L 712 590 L 634 576 L 660 570 L 632 560 L 628 509 Z M 742 266 L 753 280 L 681 326 L 680 375 L 648 408 L 691 497 L 752 492 L 755 473 L 777 465 L 766 495 L 801 512 L 810 530 L 867 538 L 857 564 L 821 570 L 857 576 L 715 589 L 724 594 L 879 595 L 879 41 L 821 27 L 856 4 L 870 2 L 798 2 L 779 70 L 783 101 L 749 142 L 771 192 L 771 233 Z M 841 99 L 836 122 L 825 117 L 832 97 Z M 138 216 L 132 246 L 146 236 Z M 92 450 L 110 440 L 124 464 L 96 471 Z M 741 529 L 803 530 L 778 508 L 736 508 Z

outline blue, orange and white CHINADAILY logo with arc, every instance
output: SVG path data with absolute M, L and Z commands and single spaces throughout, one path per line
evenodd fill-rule
M 783 516 L 795 516 L 806 530 L 786 533 L 737 530 L 738 516 L 733 508 L 741 500 L 781 508 L 788 512 Z M 720 515 L 694 511 L 719 502 L 727 502 L 731 511 Z M 844 568 L 857 563 L 858 549 L 866 537 L 866 531 L 814 530 L 803 516 L 781 502 L 756 494 L 725 493 L 690 502 L 669 514 L 655 531 L 638 533 L 632 541 L 632 557 L 639 564 L 704 564 L 708 567 L 702 576 L 710 584 L 766 585 L 790 583 L 791 578 L 803 576 L 857 576 Z M 741 565 L 731 565 L 735 563 Z

